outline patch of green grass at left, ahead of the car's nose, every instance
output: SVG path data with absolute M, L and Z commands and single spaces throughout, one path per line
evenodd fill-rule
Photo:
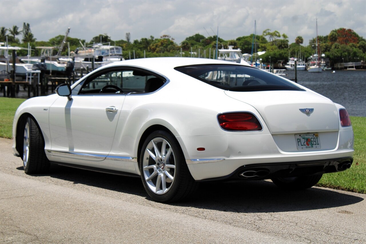
M 0 97 L 0 137 L 12 138 L 15 111 L 25 100 L 21 98 Z

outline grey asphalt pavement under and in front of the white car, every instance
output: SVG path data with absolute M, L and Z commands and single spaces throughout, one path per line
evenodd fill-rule
M 366 194 L 205 183 L 154 202 L 141 179 L 52 166 L 27 175 L 0 138 L 0 243 L 366 243 Z

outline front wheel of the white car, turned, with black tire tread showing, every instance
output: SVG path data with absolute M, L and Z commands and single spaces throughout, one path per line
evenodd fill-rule
M 27 117 L 24 124 L 23 166 L 27 174 L 46 173 L 49 161 L 45 154 L 45 143 L 36 122 Z

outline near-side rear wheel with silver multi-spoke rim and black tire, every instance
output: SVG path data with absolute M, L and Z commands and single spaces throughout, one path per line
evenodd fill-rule
M 154 131 L 146 138 L 139 166 L 147 194 L 158 202 L 182 200 L 193 194 L 197 187 L 178 141 L 166 131 Z

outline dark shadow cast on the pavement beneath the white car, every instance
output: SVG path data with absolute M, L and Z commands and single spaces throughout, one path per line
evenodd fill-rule
M 22 167 L 17 169 L 23 170 Z M 74 184 L 84 184 L 110 191 L 145 197 L 153 201 L 140 178 L 93 172 L 52 165 L 50 176 Z M 195 194 L 178 203 L 156 203 L 165 206 L 193 207 L 234 213 L 271 213 L 328 209 L 361 202 L 364 198 L 327 188 L 312 187 L 301 191 L 285 191 L 271 181 L 237 181 L 200 183 Z

